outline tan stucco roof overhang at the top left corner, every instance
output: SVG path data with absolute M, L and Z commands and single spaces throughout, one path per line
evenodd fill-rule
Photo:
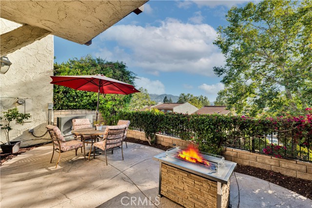
M 141 6 L 147 1 L 1 0 L 0 17 L 23 24 L 1 35 L 1 56 L 20 49 L 11 41 L 25 46 L 48 34 L 89 45 L 92 38 L 131 12 L 143 11 Z

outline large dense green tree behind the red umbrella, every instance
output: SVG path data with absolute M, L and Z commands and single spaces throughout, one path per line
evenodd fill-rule
M 123 62 L 105 61 L 90 55 L 69 59 L 63 63 L 54 64 L 55 76 L 66 75 L 97 75 L 102 74 L 129 84 L 134 84 L 136 75 L 127 69 Z M 85 109 L 96 110 L 98 93 L 73 90 L 68 87 L 54 85 L 54 109 Z M 132 95 L 100 95 L 99 109 L 104 119 L 110 118 L 120 109 L 128 107 Z

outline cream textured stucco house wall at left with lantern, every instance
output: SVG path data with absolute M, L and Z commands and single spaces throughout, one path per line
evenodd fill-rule
M 6 33 L 20 24 L 0 19 L 0 33 Z M 54 45 L 53 36 L 48 35 L 41 40 L 21 48 L 7 57 L 12 62 L 6 74 L 0 74 L 0 111 L 18 107 L 20 113 L 31 114 L 31 119 L 24 124 L 12 124 L 11 140 L 23 140 L 22 146 L 41 143 L 42 139 L 32 136 L 28 129 L 34 129 L 35 135 L 46 132 L 48 122 L 48 103 L 53 103 L 53 85 L 50 84 L 53 75 Z M 26 100 L 26 105 L 17 104 L 17 99 Z M 5 136 L 1 131 L 1 141 Z M 46 134 L 42 138 L 49 138 Z M 33 139 L 33 140 L 32 140 Z

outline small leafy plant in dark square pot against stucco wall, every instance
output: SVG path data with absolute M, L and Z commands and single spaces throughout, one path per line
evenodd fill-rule
M 11 122 L 16 121 L 21 124 L 25 119 L 30 118 L 29 113 L 19 113 L 17 108 L 9 109 L 7 112 L 2 112 L 3 117 L 0 117 L 0 120 L 4 124 L 0 124 L 1 130 L 5 133 L 5 138 L 7 143 L 4 144 L 1 141 L 1 150 L 3 153 L 15 153 L 20 150 L 21 141 L 10 142 L 9 132 L 12 130 Z M 2 120 L 3 119 L 3 120 Z

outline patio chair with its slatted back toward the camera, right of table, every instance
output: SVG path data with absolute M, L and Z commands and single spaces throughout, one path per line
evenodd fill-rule
M 106 150 L 113 150 L 116 147 L 121 146 L 121 155 L 123 160 L 122 141 L 127 130 L 127 125 L 107 126 L 103 135 L 103 141 L 94 143 L 94 147 L 97 147 L 105 152 L 105 159 L 107 165 Z M 93 150 L 93 158 L 95 158 L 95 148 Z

